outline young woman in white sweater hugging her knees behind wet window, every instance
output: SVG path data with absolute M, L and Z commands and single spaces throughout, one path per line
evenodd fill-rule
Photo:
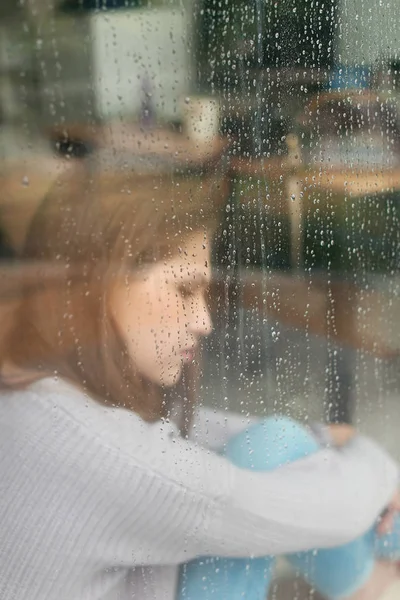
M 221 193 L 82 166 L 42 203 L 24 258 L 64 275 L 3 331 L 2 600 L 258 600 L 280 554 L 331 598 L 398 597 L 379 560 L 398 521 L 376 531 L 398 468 L 374 442 L 201 409 L 188 436 L 174 424 L 212 327 Z

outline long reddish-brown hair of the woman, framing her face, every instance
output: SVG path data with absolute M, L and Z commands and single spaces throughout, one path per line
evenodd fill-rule
M 222 182 L 86 165 L 62 176 L 32 221 L 23 259 L 59 264 L 63 276 L 24 295 L 1 363 L 69 378 L 98 400 L 147 420 L 163 415 L 164 396 L 135 372 L 107 294 L 126 269 L 173 255 L 185 236 L 213 229 Z

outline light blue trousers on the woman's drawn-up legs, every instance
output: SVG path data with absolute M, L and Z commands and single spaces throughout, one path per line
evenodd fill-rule
M 224 451 L 238 467 L 270 471 L 317 452 L 316 439 L 290 419 L 268 418 L 231 439 Z M 361 587 L 375 558 L 400 558 L 400 519 L 394 531 L 379 537 L 375 528 L 362 538 L 337 548 L 288 556 L 294 569 L 323 595 L 339 599 Z M 265 600 L 275 559 L 200 558 L 180 571 L 178 600 Z

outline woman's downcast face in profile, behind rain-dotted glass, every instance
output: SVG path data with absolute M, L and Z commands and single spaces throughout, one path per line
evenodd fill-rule
M 139 373 L 174 385 L 200 338 L 211 332 L 206 304 L 210 249 L 204 232 L 186 238 L 172 258 L 120 282 L 111 312 Z

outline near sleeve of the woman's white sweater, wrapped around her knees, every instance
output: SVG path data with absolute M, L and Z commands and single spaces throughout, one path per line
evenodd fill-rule
M 260 473 L 180 438 L 169 423 L 144 423 L 82 399 L 77 416 L 66 398 L 50 402 L 35 423 L 47 430 L 51 477 L 58 478 L 66 506 L 74 489 L 82 490 L 74 514 L 82 539 L 90 531 L 88 548 L 105 564 L 179 564 L 203 555 L 337 546 L 373 525 L 398 483 L 396 463 L 361 436 L 341 450 L 321 449 Z M 68 449 L 54 430 L 55 415 Z

